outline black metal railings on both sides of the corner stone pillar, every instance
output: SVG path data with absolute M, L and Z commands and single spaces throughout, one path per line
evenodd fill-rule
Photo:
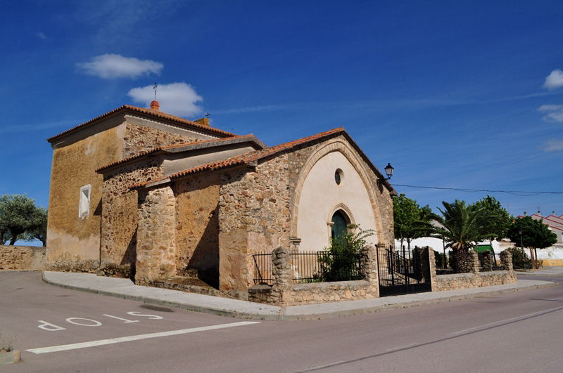
M 253 254 L 254 283 L 274 283 L 272 254 Z M 329 251 L 298 251 L 291 254 L 293 282 L 333 282 L 361 280 L 361 255 L 343 255 Z

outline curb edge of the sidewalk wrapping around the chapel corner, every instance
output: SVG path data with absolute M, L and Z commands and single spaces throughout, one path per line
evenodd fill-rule
M 514 292 L 521 292 L 525 290 L 533 290 L 533 289 L 542 289 L 545 287 L 554 287 L 557 286 L 556 282 L 549 282 L 547 284 L 535 284 L 528 287 L 519 287 L 519 288 L 512 288 L 512 289 L 500 289 L 500 290 L 493 290 L 489 292 L 479 292 L 474 294 L 464 294 L 464 295 L 454 295 L 454 296 L 444 296 L 435 299 L 426 299 L 424 301 L 411 301 L 411 302 L 403 302 L 403 303 L 391 303 L 382 306 L 372 306 L 372 307 L 362 307 L 362 308 L 354 308 L 348 310 L 338 310 L 338 311 L 331 311 L 326 313 L 310 313 L 310 314 L 301 314 L 301 315 L 287 315 L 287 309 L 280 308 L 279 313 L 277 314 L 260 314 L 260 313 L 244 313 L 236 310 L 220 310 L 216 308 L 208 308 L 202 306 L 194 306 L 190 304 L 184 303 L 177 303 L 172 301 L 163 301 L 161 299 L 150 298 L 145 296 L 132 296 L 127 294 L 119 294 L 115 292 L 106 292 L 103 290 L 96 290 L 96 289 L 89 289 L 85 287 L 77 287 L 74 285 L 68 284 L 61 284 L 58 282 L 53 282 L 45 278 L 45 273 L 42 272 L 42 280 L 44 283 L 53 285 L 56 287 L 62 287 L 64 289 L 72 289 L 72 290 L 79 290 L 81 292 L 88 292 L 92 294 L 100 294 L 105 296 L 113 296 L 115 298 L 120 299 L 127 299 L 130 301 L 141 301 L 143 303 L 154 304 L 156 306 L 167 306 L 172 308 L 179 308 L 183 310 L 191 310 L 200 313 L 208 313 L 211 315 L 219 315 L 219 316 L 226 316 L 231 318 L 239 318 L 243 320 L 265 320 L 265 321 L 304 321 L 304 320 L 322 320 L 327 318 L 340 318 L 343 316 L 351 316 L 351 315 L 364 315 L 366 313 L 376 313 L 384 310 L 396 310 L 401 308 L 411 308 L 411 307 L 418 307 L 418 306 L 425 306 L 428 304 L 438 304 L 438 303 L 447 303 L 450 301 L 462 301 L 464 299 L 472 299 L 472 298 L 484 298 L 487 296 L 495 296 L 499 294 L 510 294 Z

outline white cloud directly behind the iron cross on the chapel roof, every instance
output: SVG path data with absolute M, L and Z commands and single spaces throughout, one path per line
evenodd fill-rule
M 171 83 L 158 85 L 156 100 L 160 103 L 160 111 L 189 117 L 201 112 L 203 98 L 198 95 L 194 87 L 186 83 Z M 153 86 L 134 88 L 127 93 L 135 102 L 144 103 L 146 107 L 154 100 Z

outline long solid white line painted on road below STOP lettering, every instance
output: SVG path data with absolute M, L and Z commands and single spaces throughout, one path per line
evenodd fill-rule
M 243 325 L 253 325 L 253 324 L 260 324 L 260 322 L 259 321 L 230 322 L 229 324 L 210 325 L 208 327 L 193 327 L 190 329 L 170 330 L 170 332 L 138 334 L 136 336 L 121 336 L 118 338 L 100 339 L 99 341 L 70 343 L 70 344 L 62 344 L 60 346 L 51 346 L 51 347 L 31 348 L 25 351 L 29 351 L 32 353 L 53 353 L 58 351 L 76 350 L 77 348 L 88 348 L 88 347 L 103 346 L 106 344 L 113 344 L 113 343 L 139 341 L 140 339 L 159 338 L 161 336 L 177 336 L 179 334 L 205 332 L 206 330 L 225 329 L 227 327 L 242 327 Z

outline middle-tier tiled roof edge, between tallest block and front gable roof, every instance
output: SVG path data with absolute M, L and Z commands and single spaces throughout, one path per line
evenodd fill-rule
M 165 152 L 165 153 L 183 152 L 186 150 L 212 148 L 214 146 L 224 145 L 224 143 L 243 143 L 248 141 L 257 144 L 260 148 L 265 148 L 265 144 L 262 143 L 262 141 L 258 140 L 258 138 L 256 138 L 252 133 L 244 136 L 231 136 L 231 137 L 225 137 L 219 139 L 213 138 L 211 140 L 196 140 L 196 141 L 191 141 L 189 143 L 179 143 L 179 144 L 168 145 L 168 146 L 159 146 L 158 148 L 152 148 L 144 152 L 140 152 L 137 155 L 132 155 L 131 157 L 120 159 L 119 161 L 106 164 L 105 166 L 101 166 L 99 169 L 96 169 L 96 172 L 110 169 L 113 166 L 117 166 L 118 164 L 124 164 L 129 161 L 132 161 L 133 159 L 146 157 L 147 155 L 153 155 L 159 152 Z

